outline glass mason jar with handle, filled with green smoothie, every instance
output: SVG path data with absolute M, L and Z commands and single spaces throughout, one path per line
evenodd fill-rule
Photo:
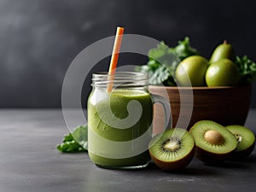
M 148 92 L 148 74 L 94 73 L 88 98 L 88 151 L 96 166 L 135 169 L 148 165 L 153 105 L 160 102 L 171 123 L 169 102 Z M 110 89 L 109 89 L 110 88 Z

